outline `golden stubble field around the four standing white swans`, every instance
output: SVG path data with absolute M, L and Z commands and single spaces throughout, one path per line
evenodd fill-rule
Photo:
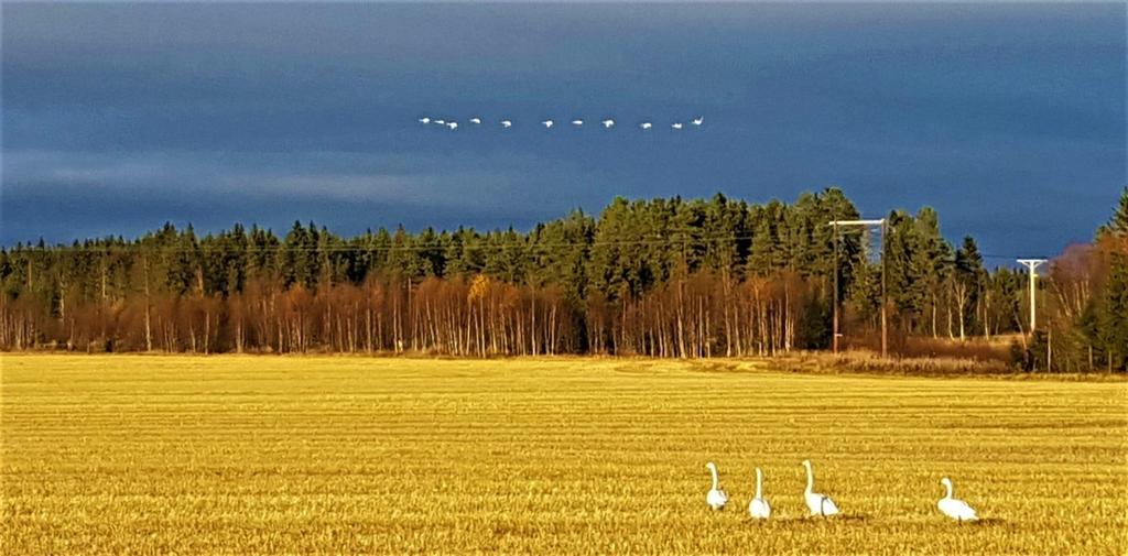
M 1128 383 L 3 354 L 3 554 L 1125 554 Z M 804 517 L 800 462 L 844 514 Z M 713 460 L 731 502 L 705 506 Z M 747 514 L 754 471 L 774 514 Z M 936 510 L 942 476 L 984 521 Z

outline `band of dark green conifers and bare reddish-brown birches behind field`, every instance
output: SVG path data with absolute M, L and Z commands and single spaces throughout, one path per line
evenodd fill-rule
M 946 241 L 934 210 L 890 212 L 883 240 L 829 224 L 857 218 L 827 188 L 790 204 L 619 197 L 527 232 L 166 223 L 41 240 L 0 249 L 0 348 L 774 355 L 828 348 L 838 299 L 851 347 L 876 345 L 884 308 L 895 354 L 1013 338 L 1028 370 L 1126 369 L 1128 188 L 1092 242 L 1041 273 L 1033 333 L 1026 272 Z

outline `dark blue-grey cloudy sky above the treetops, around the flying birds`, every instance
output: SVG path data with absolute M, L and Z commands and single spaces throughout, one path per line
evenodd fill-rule
M 838 186 L 864 217 L 929 205 L 953 241 L 1052 256 L 1128 184 L 1123 3 L 0 9 L 3 245 L 525 230 L 615 196 Z

